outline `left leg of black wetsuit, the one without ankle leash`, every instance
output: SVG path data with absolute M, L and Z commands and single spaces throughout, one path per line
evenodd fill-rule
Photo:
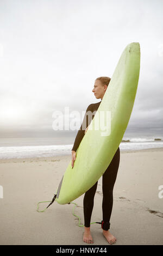
M 93 210 L 93 204 L 94 204 L 94 197 L 97 189 L 97 183 L 93 185 L 88 191 L 85 192 L 85 196 L 83 199 L 83 206 L 84 206 L 84 225 L 85 227 L 90 227 L 91 222 L 91 215 Z

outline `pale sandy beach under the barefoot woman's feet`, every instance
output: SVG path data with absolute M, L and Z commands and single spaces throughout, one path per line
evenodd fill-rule
M 1 245 L 88 245 L 84 227 L 72 215 L 74 204 L 54 202 L 45 212 L 37 203 L 52 200 L 71 155 L 0 161 Z M 115 245 L 163 245 L 163 148 L 121 151 L 114 186 L 110 232 Z M 162 192 L 163 194 L 163 192 Z M 102 177 L 98 180 L 91 222 L 102 221 Z M 73 202 L 83 215 L 84 194 Z M 40 210 L 48 203 L 40 204 Z M 109 245 L 100 224 L 91 225 L 93 245 Z

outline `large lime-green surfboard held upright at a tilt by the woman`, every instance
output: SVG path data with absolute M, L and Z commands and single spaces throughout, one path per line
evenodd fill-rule
M 118 60 L 102 102 L 77 149 L 74 167 L 70 161 L 62 176 L 55 199 L 59 204 L 82 196 L 109 166 L 127 129 L 139 72 L 140 44 L 132 42 Z

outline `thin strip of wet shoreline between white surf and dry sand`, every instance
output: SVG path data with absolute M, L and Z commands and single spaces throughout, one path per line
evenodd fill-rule
M 162 152 L 163 148 L 149 148 L 149 149 L 138 149 L 138 150 L 120 150 L 121 154 L 126 153 L 141 153 L 141 152 Z M 0 159 L 0 163 L 10 163 L 10 162 L 39 162 L 39 161 L 60 161 L 62 159 L 71 159 L 71 154 L 61 154 L 55 156 L 45 156 L 45 157 L 24 157 L 24 158 L 10 158 L 10 159 Z

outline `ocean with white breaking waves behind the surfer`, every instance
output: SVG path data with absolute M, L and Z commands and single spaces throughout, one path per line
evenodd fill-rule
M 0 159 L 71 155 L 75 137 L 0 138 Z M 121 151 L 163 148 L 163 137 L 124 137 Z

